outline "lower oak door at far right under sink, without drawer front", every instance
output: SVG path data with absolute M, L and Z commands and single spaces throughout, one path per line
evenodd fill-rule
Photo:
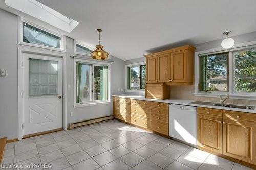
M 223 154 L 255 163 L 255 125 L 248 121 L 223 120 Z

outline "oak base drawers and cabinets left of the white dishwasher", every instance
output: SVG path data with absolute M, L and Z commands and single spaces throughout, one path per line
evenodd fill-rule
M 144 100 L 113 97 L 113 114 L 116 119 L 168 135 L 168 104 Z

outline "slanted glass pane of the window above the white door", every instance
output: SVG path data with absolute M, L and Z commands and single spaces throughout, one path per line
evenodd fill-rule
M 61 37 L 23 22 L 23 42 L 61 48 Z

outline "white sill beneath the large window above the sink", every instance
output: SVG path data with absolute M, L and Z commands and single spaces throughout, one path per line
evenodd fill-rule
M 255 94 L 248 93 L 228 93 L 228 92 L 215 92 L 215 93 L 194 93 L 194 96 L 208 97 L 208 98 L 219 98 L 220 95 L 229 95 L 230 99 L 242 99 L 242 100 L 256 100 Z

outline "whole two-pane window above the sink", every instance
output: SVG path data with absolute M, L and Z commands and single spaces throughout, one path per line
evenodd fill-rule
M 256 48 L 240 49 L 199 55 L 199 91 L 256 95 Z

